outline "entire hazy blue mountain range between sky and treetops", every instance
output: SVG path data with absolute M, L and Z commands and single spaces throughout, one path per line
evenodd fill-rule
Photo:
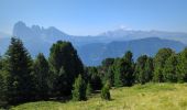
M 85 65 L 99 65 L 107 57 L 120 57 L 130 50 L 134 59 L 140 55 L 153 56 L 161 47 L 182 51 L 187 44 L 187 33 L 162 31 L 114 30 L 96 36 L 75 36 L 66 34 L 54 26 L 44 29 L 38 25 L 26 26 L 18 22 L 13 26 L 13 36 L 20 37 L 33 57 L 37 53 L 48 56 L 50 47 L 58 40 L 69 41 Z M 0 53 L 8 48 L 10 36 L 0 33 Z

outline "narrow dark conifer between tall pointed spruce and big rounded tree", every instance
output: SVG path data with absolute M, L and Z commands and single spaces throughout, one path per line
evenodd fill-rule
M 40 53 L 34 62 L 34 81 L 37 99 L 47 99 L 50 92 L 50 66 L 45 56 Z

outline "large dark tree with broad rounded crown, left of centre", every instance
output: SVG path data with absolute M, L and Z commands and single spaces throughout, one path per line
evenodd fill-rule
M 59 92 L 59 96 L 70 95 L 73 82 L 78 74 L 82 74 L 85 78 L 84 65 L 77 55 L 77 51 L 69 42 L 58 41 L 53 44 L 50 53 L 50 65 L 55 76 L 54 82 L 58 82 L 58 87 L 54 84 L 54 90 Z M 61 73 L 62 67 L 64 74 Z

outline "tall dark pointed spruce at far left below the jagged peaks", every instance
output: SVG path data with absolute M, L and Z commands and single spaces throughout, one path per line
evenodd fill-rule
M 33 98 L 32 59 L 21 40 L 12 37 L 7 52 L 8 96 L 10 103 L 18 103 Z

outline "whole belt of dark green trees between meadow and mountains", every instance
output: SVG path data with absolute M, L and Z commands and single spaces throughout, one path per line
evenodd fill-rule
M 133 53 L 106 58 L 97 67 L 84 66 L 70 42 L 52 45 L 50 57 L 42 53 L 33 59 L 22 41 L 11 38 L 9 48 L 0 57 L 0 107 L 37 100 L 88 100 L 100 91 L 110 100 L 111 87 L 131 87 L 146 82 L 186 82 L 187 48 L 175 53 L 161 48 L 154 57 Z

